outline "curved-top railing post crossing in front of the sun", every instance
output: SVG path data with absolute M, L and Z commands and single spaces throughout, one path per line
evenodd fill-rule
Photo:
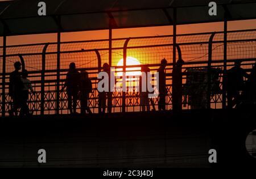
M 123 76 L 122 76 L 122 81 L 123 81 L 123 86 L 125 85 L 125 89 L 122 86 L 122 112 L 125 112 L 125 100 L 126 100 L 126 58 L 127 58 L 127 46 L 130 41 L 129 39 L 126 39 L 125 44 L 123 45 Z

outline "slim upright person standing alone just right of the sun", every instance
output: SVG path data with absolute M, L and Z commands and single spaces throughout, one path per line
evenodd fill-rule
M 160 68 L 158 69 L 159 73 L 159 101 L 158 101 L 158 110 L 166 110 L 166 73 L 164 70 L 166 69 L 167 61 L 166 59 L 162 59 Z

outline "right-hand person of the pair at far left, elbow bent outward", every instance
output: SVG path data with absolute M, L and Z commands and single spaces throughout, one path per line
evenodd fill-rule
M 29 94 L 29 91 L 34 93 L 34 90 L 32 88 L 32 84 L 31 84 L 30 80 L 27 79 L 27 77 L 28 77 L 27 70 L 23 70 L 22 71 L 23 88 L 22 88 L 22 93 L 21 93 L 22 103 L 21 103 L 21 109 L 20 109 L 20 116 L 30 115 L 29 108 L 28 108 L 28 105 L 27 105 L 28 94 Z

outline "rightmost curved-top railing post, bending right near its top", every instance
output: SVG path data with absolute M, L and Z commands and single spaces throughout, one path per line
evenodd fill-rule
M 212 42 L 213 38 L 216 35 L 216 32 L 213 32 L 212 35 L 210 36 L 209 39 L 209 44 L 208 44 L 208 66 L 207 66 L 207 109 L 210 109 L 210 96 L 211 96 L 211 79 L 212 79 Z

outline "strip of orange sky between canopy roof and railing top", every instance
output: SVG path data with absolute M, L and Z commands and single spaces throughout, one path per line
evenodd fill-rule
M 228 29 L 229 30 L 256 29 L 256 20 L 243 20 L 243 21 L 229 22 Z M 192 25 L 177 26 L 177 33 L 197 33 L 197 32 L 214 32 L 214 31 L 223 31 L 223 23 L 206 23 L 206 24 L 192 24 Z M 134 37 L 134 36 L 157 36 L 157 35 L 171 35 L 171 34 L 172 34 L 172 26 L 116 29 L 113 31 L 113 38 Z M 108 31 L 106 30 L 106 31 L 72 32 L 72 33 L 63 33 L 61 35 L 61 41 L 94 40 L 94 39 L 108 39 Z M 54 41 L 56 41 L 56 34 L 7 37 L 7 45 L 31 44 L 31 43 L 40 43 L 40 42 L 54 42 Z

